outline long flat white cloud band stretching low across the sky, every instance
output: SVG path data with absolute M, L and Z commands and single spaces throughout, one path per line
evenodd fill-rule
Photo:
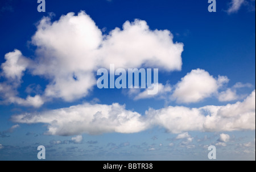
M 255 130 L 255 91 L 242 102 L 225 106 L 187 108 L 168 106 L 149 109 L 145 115 L 126 110 L 125 106 L 83 104 L 36 114 L 11 117 L 17 123 L 46 123 L 49 135 L 102 134 L 106 132 L 134 133 L 160 126 L 180 134 L 177 138 L 191 138 L 188 131 L 224 132 Z M 221 136 L 224 140 L 224 136 Z

